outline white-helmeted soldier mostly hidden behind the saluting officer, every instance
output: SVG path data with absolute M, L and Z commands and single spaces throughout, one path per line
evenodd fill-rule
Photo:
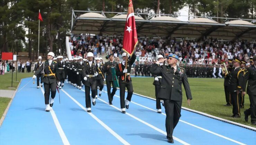
M 164 59 L 164 57 L 162 55 L 158 55 L 156 57 L 157 61 L 161 61 L 162 59 Z M 163 65 L 163 63 L 159 63 L 158 67 L 161 67 Z M 153 73 L 152 73 L 153 74 Z M 155 85 L 155 96 L 156 96 L 156 111 L 157 113 L 162 113 L 162 108 L 161 108 L 161 99 L 159 99 L 157 97 L 159 90 L 160 90 L 160 85 L 162 82 L 162 76 L 161 75 L 154 75 L 155 80 L 153 85 Z

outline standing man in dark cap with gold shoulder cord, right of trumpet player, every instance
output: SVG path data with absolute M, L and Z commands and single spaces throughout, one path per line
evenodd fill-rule
M 243 86 L 244 72 L 240 68 L 241 63 L 242 62 L 239 58 L 235 58 L 233 62 L 229 65 L 230 74 L 227 74 L 229 76 L 228 88 L 231 96 L 231 103 L 233 106 L 233 110 L 232 110 L 233 115 L 231 117 L 234 117 L 234 118 L 240 117 L 239 98 L 241 95 L 241 90 L 244 90 L 244 86 Z

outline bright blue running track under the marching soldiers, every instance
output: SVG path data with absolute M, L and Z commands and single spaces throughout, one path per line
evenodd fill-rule
M 18 90 L 30 80 L 22 79 Z M 134 94 L 129 109 L 122 114 L 119 90 L 113 105 L 102 91 L 92 113 L 87 113 L 84 88 L 65 83 L 60 90 L 61 104 L 57 93 L 53 110 L 45 112 L 43 92 L 31 82 L 16 93 L 0 128 L 0 145 L 168 144 L 164 107 L 162 114 L 156 113 L 152 99 Z M 256 144 L 255 131 L 183 109 L 181 114 L 174 129 L 174 144 Z

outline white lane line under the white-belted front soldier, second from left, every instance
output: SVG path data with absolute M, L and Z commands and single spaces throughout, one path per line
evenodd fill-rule
M 70 97 L 79 107 L 81 107 L 85 112 L 87 111 L 83 105 L 81 105 L 78 101 L 76 101 L 72 96 L 70 96 L 64 89 L 61 89 L 68 97 Z M 103 123 L 98 117 L 96 117 L 92 113 L 88 113 L 93 119 L 95 119 L 99 124 L 101 124 L 104 128 L 106 128 L 113 136 L 115 136 L 122 144 L 130 145 L 125 139 L 123 139 L 120 135 L 114 132 L 110 127 L 108 127 L 105 123 Z

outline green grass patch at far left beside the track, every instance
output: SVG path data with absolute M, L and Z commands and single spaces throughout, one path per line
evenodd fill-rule
M 17 81 L 20 81 L 22 78 L 27 78 L 27 77 L 33 77 L 33 73 L 17 73 Z M 12 82 L 12 87 L 14 88 L 9 88 L 11 87 L 11 72 L 5 73 L 4 75 L 0 75 L 0 89 L 2 90 L 15 90 L 19 84 L 19 82 L 16 81 L 16 72 L 13 72 L 13 82 Z

